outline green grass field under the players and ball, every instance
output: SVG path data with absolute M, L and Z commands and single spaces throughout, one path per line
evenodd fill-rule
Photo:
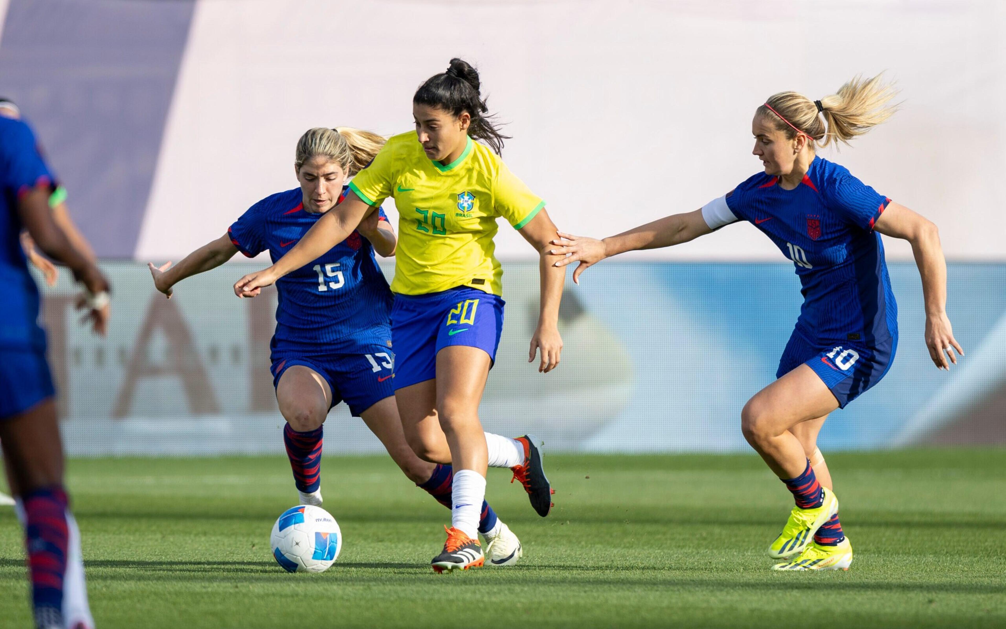
M 448 511 L 386 457 L 328 458 L 344 548 L 289 575 L 269 533 L 285 457 L 75 460 L 68 485 L 92 605 L 110 627 L 1003 627 L 1006 451 L 829 457 L 856 552 L 847 573 L 769 570 L 792 499 L 752 456 L 550 456 L 556 507 L 509 474 L 488 496 L 512 568 L 439 576 Z M 0 511 L 0 625 L 27 627 L 20 529 Z

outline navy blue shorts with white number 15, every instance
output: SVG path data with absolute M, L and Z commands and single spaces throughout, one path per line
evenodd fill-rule
M 394 352 L 385 341 L 360 347 L 359 353 L 306 354 L 273 350 L 273 385 L 287 369 L 300 364 L 313 369 L 332 389 L 332 407 L 345 402 L 353 417 L 394 396 Z M 331 407 L 330 407 L 331 408 Z

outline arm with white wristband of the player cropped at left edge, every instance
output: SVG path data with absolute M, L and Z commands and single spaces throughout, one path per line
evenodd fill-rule
M 95 332 L 105 334 L 110 316 L 109 281 L 98 265 L 73 247 L 59 225 L 52 220 L 49 190 L 39 186 L 23 194 L 18 198 L 17 210 L 21 224 L 28 230 L 38 249 L 52 260 L 68 267 L 73 272 L 73 277 L 83 284 L 88 294 L 77 302 L 77 309 L 88 310 L 85 319 L 91 320 Z

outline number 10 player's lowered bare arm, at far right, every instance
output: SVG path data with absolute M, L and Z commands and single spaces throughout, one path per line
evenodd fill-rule
M 932 221 L 893 201 L 887 204 L 873 228 L 911 244 L 915 266 L 923 279 L 926 346 L 937 367 L 950 369 L 951 363 L 957 364 L 954 350 L 962 356 L 964 350 L 954 338 L 954 329 L 947 317 L 947 260 L 940 246 L 939 229 Z

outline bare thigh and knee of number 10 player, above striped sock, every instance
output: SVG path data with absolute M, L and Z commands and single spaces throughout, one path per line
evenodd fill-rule
M 796 478 L 807 467 L 794 426 L 827 416 L 838 401 L 806 364 L 793 369 L 754 395 L 740 414 L 744 439 L 777 476 Z

